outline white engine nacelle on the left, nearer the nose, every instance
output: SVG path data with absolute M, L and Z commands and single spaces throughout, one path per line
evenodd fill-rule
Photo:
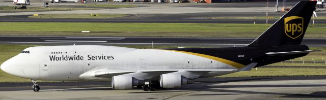
M 133 86 L 144 85 L 145 81 L 138 80 L 130 76 L 114 76 L 112 77 L 113 89 L 130 89 Z

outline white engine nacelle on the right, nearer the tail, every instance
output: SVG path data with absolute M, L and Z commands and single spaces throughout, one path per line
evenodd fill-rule
M 194 79 L 188 79 L 178 74 L 162 74 L 159 84 L 162 88 L 174 88 L 181 85 L 194 83 Z

